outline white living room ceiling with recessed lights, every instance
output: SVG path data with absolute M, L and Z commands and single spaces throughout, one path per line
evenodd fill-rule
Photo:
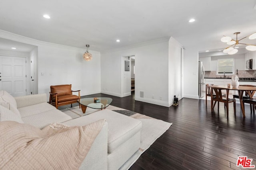
M 256 32 L 255 6 L 256 0 L 1 0 L 0 29 L 95 51 L 172 36 L 200 51 L 227 47 L 223 35 Z

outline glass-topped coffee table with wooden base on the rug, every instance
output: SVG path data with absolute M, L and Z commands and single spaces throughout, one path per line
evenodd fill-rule
M 93 109 L 105 109 L 111 104 L 112 98 L 82 98 L 77 102 L 81 105 L 83 113 L 85 113 L 87 107 Z

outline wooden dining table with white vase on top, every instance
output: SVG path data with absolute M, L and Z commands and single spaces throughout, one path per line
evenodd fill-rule
M 237 90 L 238 91 L 238 96 L 239 96 L 239 100 L 240 100 L 240 105 L 241 105 L 241 109 L 242 109 L 242 113 L 243 113 L 243 117 L 245 117 L 245 110 L 244 110 L 244 103 L 242 100 L 243 94 L 244 92 L 248 93 L 248 96 L 250 98 L 253 98 L 255 92 L 256 92 L 256 87 L 252 87 L 252 86 L 238 86 L 238 87 L 233 87 L 233 86 L 224 86 L 224 85 L 212 85 L 212 87 L 217 87 L 217 88 L 223 88 L 223 89 L 229 89 L 229 90 Z M 228 96 L 227 96 L 228 98 Z

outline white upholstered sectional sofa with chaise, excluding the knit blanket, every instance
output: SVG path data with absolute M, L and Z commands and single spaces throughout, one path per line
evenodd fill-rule
M 13 98 L 0 91 L 0 121 L 17 121 L 42 129 L 55 122 L 83 126 L 99 119 L 106 122 L 80 169 L 117 170 L 140 148 L 141 121 L 108 109 L 72 119 L 48 104 L 46 94 Z

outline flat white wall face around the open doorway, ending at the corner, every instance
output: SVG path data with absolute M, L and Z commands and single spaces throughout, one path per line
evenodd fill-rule
M 102 53 L 101 92 L 120 96 L 121 56 L 135 54 L 135 100 L 168 106 L 168 41 L 169 38 Z M 144 92 L 144 98 L 140 97 L 140 91 Z

